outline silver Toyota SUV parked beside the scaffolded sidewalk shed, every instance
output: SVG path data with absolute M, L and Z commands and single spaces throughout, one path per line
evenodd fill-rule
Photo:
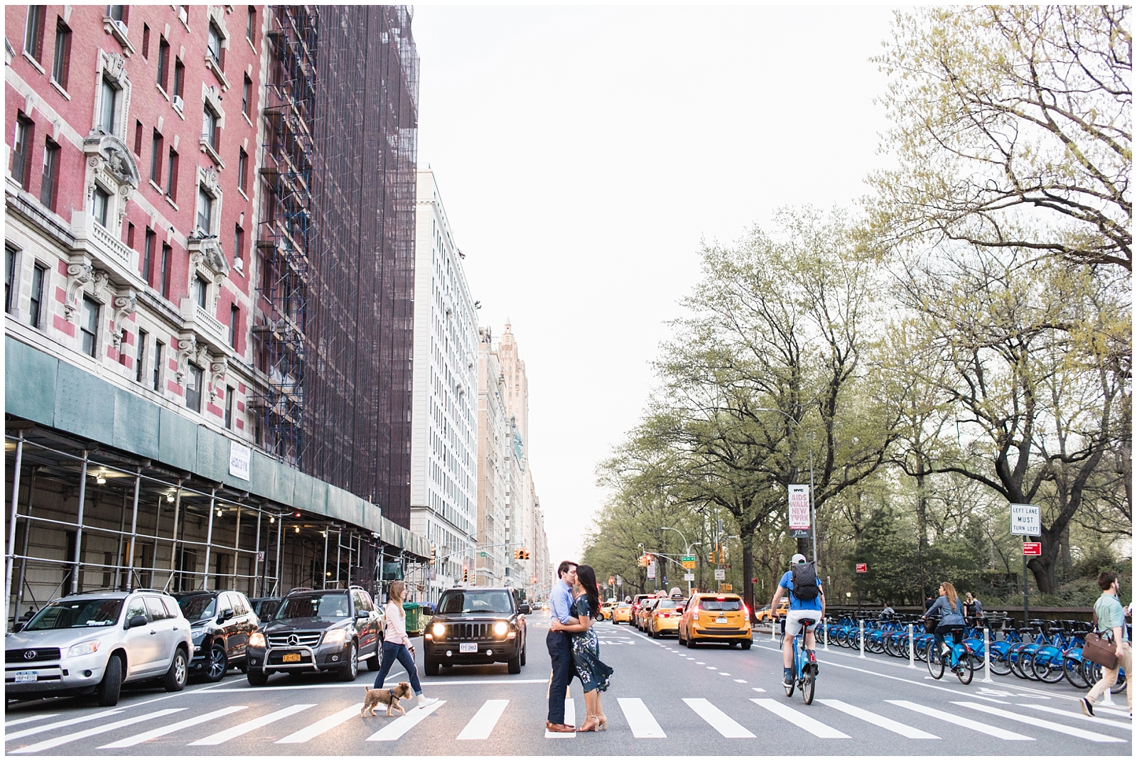
M 158 589 L 86 592 L 47 604 L 5 640 L 5 697 L 96 694 L 115 705 L 123 684 L 185 687 L 190 622 Z

